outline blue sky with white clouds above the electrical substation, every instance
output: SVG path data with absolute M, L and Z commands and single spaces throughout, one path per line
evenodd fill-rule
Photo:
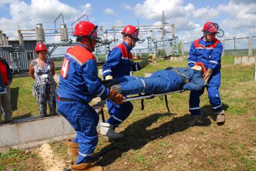
M 148 0 L 148 1 L 58 1 L 58 0 L 1 0 L 0 29 L 17 40 L 17 25 L 20 29 L 35 28 L 43 23 L 44 28 L 54 28 L 54 19 L 64 14 L 68 27 L 82 14 L 89 14 L 90 22 L 110 29 L 113 25 L 157 25 L 164 10 L 168 23 L 175 24 L 179 40 L 191 42 L 202 35 L 205 22 L 219 23 L 225 38 L 251 37 L 256 35 L 256 1 L 250 0 Z M 86 17 L 84 18 L 86 20 Z M 61 20 L 58 20 L 59 27 Z M 145 38 L 146 34 L 141 34 Z M 118 35 L 117 35 L 118 37 Z M 57 37 L 48 41 L 56 42 Z

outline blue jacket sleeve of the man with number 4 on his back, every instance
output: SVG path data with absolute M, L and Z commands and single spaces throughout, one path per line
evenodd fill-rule
M 101 98 L 108 97 L 110 91 L 102 85 L 98 77 L 95 60 L 90 59 L 83 64 L 83 77 L 90 94 Z

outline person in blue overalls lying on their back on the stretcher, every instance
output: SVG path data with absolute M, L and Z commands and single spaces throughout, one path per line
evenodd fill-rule
M 189 68 L 166 68 L 155 71 L 150 77 L 124 76 L 104 81 L 104 86 L 112 87 L 123 96 L 132 94 L 161 94 L 181 89 L 199 91 L 205 85 L 206 68 L 201 62 Z

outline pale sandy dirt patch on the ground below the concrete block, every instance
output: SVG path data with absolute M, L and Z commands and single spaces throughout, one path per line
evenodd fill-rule
M 48 171 L 63 170 L 65 167 L 63 159 L 54 155 L 54 151 L 52 151 L 51 146 L 48 143 L 43 144 L 39 148 L 39 155 L 43 158 L 45 169 Z

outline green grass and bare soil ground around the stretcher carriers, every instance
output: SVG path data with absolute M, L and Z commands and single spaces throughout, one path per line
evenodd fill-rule
M 135 73 L 163 70 L 166 67 L 187 67 L 181 62 L 158 60 Z M 189 92 L 168 95 L 172 115 L 167 113 L 164 101 L 159 98 L 145 100 L 145 110 L 140 101 L 133 101 L 133 113 L 117 131 L 123 131 L 124 140 L 106 143 L 99 136 L 95 152 L 104 148 L 114 149 L 104 155 L 99 164 L 105 170 L 256 170 L 256 83 L 254 65 L 234 65 L 233 56 L 222 58 L 220 95 L 225 109 L 226 123 L 221 127 L 211 121 L 209 125 L 187 127 L 189 119 Z M 57 71 L 59 73 L 60 71 Z M 31 94 L 30 77 L 13 79 L 11 97 L 14 118 L 39 115 L 36 98 Z M 202 111 L 211 115 L 207 92 L 201 96 Z M 105 110 L 105 118 L 108 113 Z M 208 117 L 209 119 L 210 117 Z M 54 152 L 68 160 L 63 143 L 51 143 Z M 17 153 L 17 152 L 16 152 Z M 1 154 L 7 157 L 11 152 Z M 21 155 L 22 156 L 22 155 Z M 173 156 L 168 158 L 168 156 Z M 14 157 L 15 158 L 15 155 Z M 31 156 L 24 162 L 31 160 Z M 0 158 L 0 170 L 12 165 L 13 160 Z M 10 162 L 8 162 L 10 161 Z M 124 164 L 126 163 L 126 164 Z M 10 166 L 9 166 L 10 164 Z M 171 168 L 171 169 L 170 169 Z M 18 169 L 16 169 L 18 170 Z M 34 169 L 40 170 L 40 169 Z

